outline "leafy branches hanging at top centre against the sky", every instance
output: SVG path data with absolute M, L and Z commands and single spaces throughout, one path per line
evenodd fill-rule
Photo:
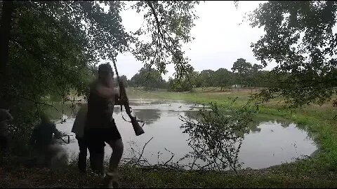
M 188 59 L 183 57 L 181 43 L 192 40 L 190 29 L 197 19 L 194 6 L 199 1 L 136 1 L 132 8 L 138 13 L 143 12 L 147 21 L 134 34 L 143 36 L 149 34 L 150 41 L 136 42 L 133 54 L 145 62 L 146 66 L 157 66 L 160 73 L 166 73 L 166 64 L 175 65 L 177 78 L 185 76 L 190 71 Z

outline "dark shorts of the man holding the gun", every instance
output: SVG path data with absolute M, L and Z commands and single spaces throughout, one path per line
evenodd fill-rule
M 86 139 L 88 141 L 88 149 L 94 153 L 101 153 L 102 149 L 104 151 L 105 142 L 110 143 L 111 141 L 117 141 L 121 139 L 121 134 L 119 133 L 114 120 L 110 127 L 106 128 L 88 128 L 86 130 Z

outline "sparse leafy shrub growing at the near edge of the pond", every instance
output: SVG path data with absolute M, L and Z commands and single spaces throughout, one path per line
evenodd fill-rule
M 230 167 L 237 173 L 241 166 L 238 155 L 243 133 L 247 131 L 254 111 L 249 106 L 237 109 L 233 104 L 234 101 L 227 106 L 227 113 L 211 103 L 211 110 L 201 109 L 197 118 L 180 117 L 184 122 L 180 127 L 190 135 L 188 144 L 193 149 L 191 169 L 194 165 L 199 169 L 218 171 Z M 204 161 L 205 165 L 197 165 L 197 160 Z

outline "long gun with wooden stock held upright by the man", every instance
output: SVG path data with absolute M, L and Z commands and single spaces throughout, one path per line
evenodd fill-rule
M 117 99 L 117 102 L 119 102 L 119 104 L 121 105 L 121 110 L 123 109 L 123 105 L 124 105 L 126 114 L 128 114 L 128 117 L 131 119 L 131 124 L 133 126 L 133 130 L 135 131 L 136 136 L 139 136 L 140 134 L 144 133 L 144 130 L 143 130 L 142 127 L 140 127 L 136 117 L 133 117 L 131 115 L 131 107 L 128 104 L 128 97 L 126 96 L 124 83 L 119 78 L 117 66 L 116 66 L 116 62 L 114 61 L 114 58 L 112 58 L 112 62 L 114 63 L 114 70 L 116 71 L 117 82 L 119 84 L 119 99 Z

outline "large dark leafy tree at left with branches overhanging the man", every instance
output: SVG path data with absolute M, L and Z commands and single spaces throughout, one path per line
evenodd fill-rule
M 72 89 L 87 94 L 100 58 L 131 51 L 145 64 L 156 62 L 159 73 L 173 62 L 177 76 L 190 67 L 181 43 L 191 40 L 197 1 L 132 2 L 147 23 L 135 33 L 121 25 L 124 1 L 0 3 L 0 99 L 11 106 L 15 124 L 30 125 L 50 106 L 46 96 L 65 101 Z M 150 42 L 140 40 L 144 35 Z

